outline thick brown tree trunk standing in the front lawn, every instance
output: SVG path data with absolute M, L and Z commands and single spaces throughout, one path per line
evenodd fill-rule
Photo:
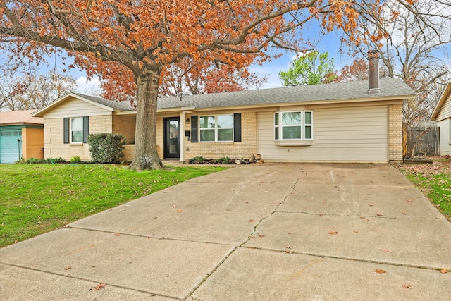
M 156 150 L 156 102 L 160 74 L 161 70 L 148 70 L 136 76 L 135 158 L 129 166 L 135 171 L 164 167 Z

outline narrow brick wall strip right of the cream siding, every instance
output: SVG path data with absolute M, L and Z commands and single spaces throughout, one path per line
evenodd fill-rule
M 402 161 L 402 104 L 388 106 L 388 160 Z

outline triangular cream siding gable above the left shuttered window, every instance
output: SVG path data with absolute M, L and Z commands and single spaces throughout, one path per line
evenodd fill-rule
M 44 118 L 65 118 L 82 116 L 111 115 L 111 111 L 89 104 L 80 99 L 68 99 L 63 104 L 59 104 L 44 114 Z

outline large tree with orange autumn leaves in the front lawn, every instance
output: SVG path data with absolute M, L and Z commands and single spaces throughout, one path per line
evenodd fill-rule
M 354 35 L 359 16 L 377 22 L 379 6 L 377 0 L 1 0 L 0 47 L 29 58 L 66 49 L 110 92 L 135 94 L 130 168 L 162 168 L 156 102 L 164 68 L 189 59 L 199 70 L 211 63 L 240 70 L 277 55 L 271 47 L 311 49 L 309 26 L 362 43 Z M 376 30 L 369 39 L 382 35 Z

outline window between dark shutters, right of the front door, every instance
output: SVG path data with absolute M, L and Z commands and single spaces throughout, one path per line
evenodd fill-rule
M 233 142 L 233 114 L 200 116 L 201 142 Z

